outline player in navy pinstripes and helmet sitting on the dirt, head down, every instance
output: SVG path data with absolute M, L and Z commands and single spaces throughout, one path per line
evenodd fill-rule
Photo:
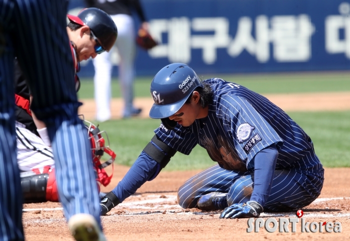
M 172 63 L 153 78 L 149 112 L 161 119 L 155 135 L 118 185 L 102 199 L 101 214 L 152 180 L 179 151 L 196 144 L 218 164 L 179 187 L 183 208 L 222 210 L 220 218 L 258 217 L 310 204 L 323 185 L 311 138 L 282 109 L 244 86 L 201 81 L 188 65 Z

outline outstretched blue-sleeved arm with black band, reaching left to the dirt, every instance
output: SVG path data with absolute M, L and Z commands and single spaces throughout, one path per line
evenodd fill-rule
M 101 215 L 135 193 L 144 182 L 154 179 L 175 152 L 176 150 L 154 136 L 121 181 L 101 200 Z

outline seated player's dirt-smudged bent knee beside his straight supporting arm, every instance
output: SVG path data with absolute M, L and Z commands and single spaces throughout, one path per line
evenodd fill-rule
M 253 191 L 252 183 L 251 175 L 245 175 L 237 179 L 228 191 L 228 205 L 249 201 Z

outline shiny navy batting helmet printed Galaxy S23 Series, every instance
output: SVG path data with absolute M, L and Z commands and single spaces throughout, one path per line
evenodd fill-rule
M 187 64 L 166 65 L 155 74 L 150 83 L 154 104 L 149 111 L 149 117 L 169 120 L 167 117 L 176 113 L 197 87 L 203 87 L 203 84 Z

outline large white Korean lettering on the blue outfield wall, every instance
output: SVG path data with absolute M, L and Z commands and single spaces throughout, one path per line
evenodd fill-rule
M 341 15 L 340 17 L 344 18 Z M 328 23 L 326 21 L 326 32 L 329 32 L 326 33 L 326 49 L 330 52 L 345 52 L 344 41 L 347 40 L 339 39 L 338 33 L 333 33 L 339 28 L 346 28 L 346 24 L 350 29 L 350 20 L 348 23 L 346 19 L 340 23 L 338 21 L 332 17 Z M 159 44 L 148 53 L 152 58 L 167 57 L 170 62 L 188 63 L 191 61 L 191 48 L 200 48 L 203 62 L 213 64 L 217 59 L 217 48 L 227 48 L 231 57 L 237 57 L 246 50 L 263 63 L 270 58 L 272 43 L 273 58 L 277 62 L 302 62 L 310 59 L 310 38 L 314 26 L 308 15 L 276 15 L 271 18 L 258 15 L 254 25 L 250 17 L 240 17 L 233 38 L 228 34 L 229 22 L 226 17 L 152 19 L 149 22 L 149 31 Z M 200 31 L 213 31 L 213 34 L 199 34 Z M 163 40 L 164 33 L 167 34 L 167 42 Z M 350 43 L 348 45 L 346 49 L 350 56 Z

